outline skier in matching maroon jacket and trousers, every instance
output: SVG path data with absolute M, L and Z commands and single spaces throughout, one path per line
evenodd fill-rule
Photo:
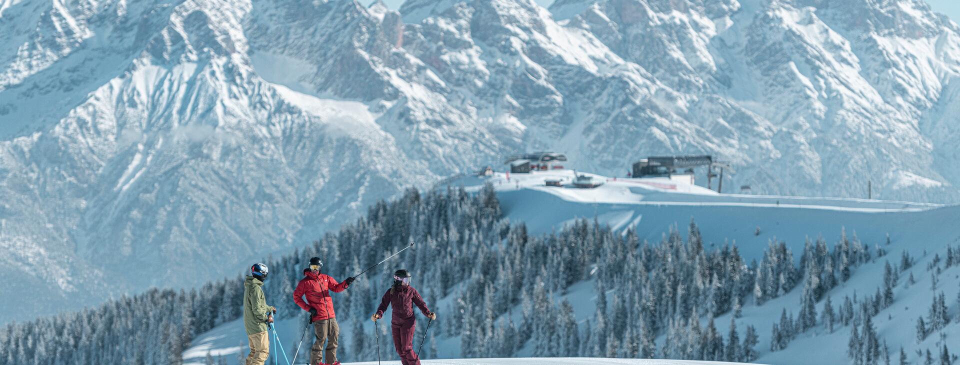
M 426 303 L 423 303 L 423 298 L 420 297 L 417 289 L 410 286 L 410 272 L 404 269 L 394 273 L 394 286 L 383 294 L 383 300 L 380 301 L 380 306 L 376 308 L 376 314 L 373 314 L 371 319 L 375 322 L 383 318 L 383 312 L 390 304 L 394 305 L 391 327 L 394 331 L 396 354 L 400 355 L 400 362 L 403 365 L 420 365 L 420 356 L 414 353 L 414 328 L 417 327 L 414 304 L 417 304 L 423 315 L 431 321 L 437 319 L 437 313 L 431 312 L 426 307 Z

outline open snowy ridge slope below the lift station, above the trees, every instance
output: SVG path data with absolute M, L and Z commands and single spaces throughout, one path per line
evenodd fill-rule
M 559 230 L 577 219 L 596 219 L 614 230 L 636 228 L 641 239 L 656 243 L 671 226 L 686 231 L 693 219 L 708 244 L 718 247 L 724 242 L 735 242 L 748 260 L 759 259 L 772 239 L 785 241 L 795 253 L 800 253 L 806 238 L 813 240 L 822 234 L 828 242 L 833 242 L 844 230 L 849 235 L 855 233 L 867 244 L 885 242 L 888 233 L 891 241 L 921 232 L 928 238 L 939 238 L 941 233 L 950 234 L 944 225 L 951 225 L 960 217 L 957 206 L 718 194 L 688 180 L 585 175 L 606 183 L 591 189 L 575 188 L 570 184 L 573 171 L 554 170 L 469 176 L 437 187 L 464 186 L 468 191 L 476 191 L 484 183 L 492 183 L 507 218 L 523 222 L 534 233 Z M 546 186 L 546 180 L 556 179 L 562 179 L 564 187 Z M 717 182 L 713 183 L 715 188 Z M 955 238 L 955 235 L 944 238 Z

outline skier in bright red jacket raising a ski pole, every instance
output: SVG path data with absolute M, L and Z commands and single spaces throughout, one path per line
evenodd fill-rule
M 300 305 L 303 310 L 310 312 L 310 323 L 313 324 L 313 331 L 316 340 L 313 347 L 310 348 L 310 365 L 340 365 L 337 361 L 337 340 L 340 337 L 340 326 L 337 325 L 336 315 L 333 313 L 333 299 L 330 298 L 330 291 L 339 293 L 346 290 L 353 278 L 347 278 L 344 282 L 337 282 L 328 275 L 321 274 L 320 269 L 324 263 L 320 257 L 310 258 L 310 268 L 303 270 L 303 279 L 297 284 L 297 290 L 294 290 L 294 302 Z M 306 302 L 303 301 L 306 296 Z M 326 363 L 324 363 L 324 342 L 326 343 L 325 354 Z

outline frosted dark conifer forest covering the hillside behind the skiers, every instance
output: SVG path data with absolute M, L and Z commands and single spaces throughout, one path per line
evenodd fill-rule
M 799 260 L 785 243 L 771 241 L 758 262 L 747 262 L 734 244 L 706 247 L 692 221 L 658 243 L 590 220 L 531 234 L 503 217 L 491 185 L 475 194 L 462 188 L 411 189 L 303 249 L 268 258 L 273 269 L 264 285 L 268 304 L 277 306 L 280 319 L 303 316 L 291 298 L 310 256 L 322 257 L 324 272 L 342 280 L 410 243 L 416 243 L 411 253 L 357 280 L 334 302 L 338 318 L 366 318 L 389 287 L 389 274 L 398 268 L 393 266 L 410 270 L 427 304 L 444 298 L 448 303 L 433 308 L 441 316 L 425 346 L 428 356 L 437 353 L 435 336 L 460 336 L 463 357 L 529 352 L 749 362 L 758 355 L 759 337 L 756 328 L 737 324 L 742 306 L 762 305 L 803 285 L 797 315 L 782 310 L 766 350 L 780 351 L 811 328 L 851 326 L 852 361 L 873 364 L 889 357 L 889 349 L 877 340 L 871 317 L 893 303 L 892 287 L 913 265 L 913 257 L 901 255 L 899 265 L 888 263 L 875 294 L 846 297 L 834 307 L 830 289 L 849 280 L 859 265 L 885 257 L 883 247 L 868 247 L 855 234 L 841 232 L 832 247 L 822 237 L 806 242 Z M 948 261 L 960 261 L 960 250 L 951 249 Z M 582 282 L 592 283 L 595 299 L 589 302 L 592 318 L 578 325 L 575 305 L 556 298 Z M 197 335 L 242 315 L 242 297 L 242 280 L 234 278 L 193 290 L 151 289 L 80 312 L 11 324 L 0 331 L 0 363 L 180 364 Z M 933 312 L 929 318 L 945 320 L 946 309 Z M 714 317 L 725 313 L 732 313 L 731 324 L 721 333 Z M 357 320 L 345 331 L 342 357 L 375 359 L 372 326 L 364 325 Z M 418 327 L 418 337 L 424 327 Z M 665 339 L 660 346 L 657 338 Z

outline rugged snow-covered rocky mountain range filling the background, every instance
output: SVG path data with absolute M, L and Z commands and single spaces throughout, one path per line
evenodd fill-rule
M 7 0 L 0 34 L 0 264 L 30 303 L 4 322 L 234 274 L 523 150 L 960 198 L 960 28 L 920 0 Z

